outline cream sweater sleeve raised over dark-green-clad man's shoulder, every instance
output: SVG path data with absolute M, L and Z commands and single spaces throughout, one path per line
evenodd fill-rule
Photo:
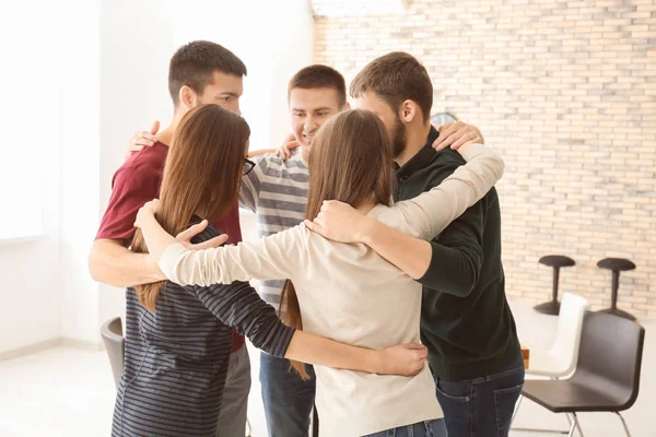
M 503 175 L 503 160 L 482 144 L 462 150 L 467 161 L 442 184 L 414 199 L 396 203 L 379 215 L 385 224 L 430 240 L 478 202 Z

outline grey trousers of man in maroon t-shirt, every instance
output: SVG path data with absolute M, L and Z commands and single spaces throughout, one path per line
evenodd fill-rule
M 216 437 L 244 437 L 250 391 L 250 359 L 246 345 L 230 354 Z

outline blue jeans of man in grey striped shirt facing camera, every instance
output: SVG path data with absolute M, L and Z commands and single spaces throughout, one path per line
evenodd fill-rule
M 304 381 L 290 368 L 289 359 L 261 353 L 260 383 L 269 437 L 308 436 L 316 377 L 312 366 L 306 368 L 312 378 Z

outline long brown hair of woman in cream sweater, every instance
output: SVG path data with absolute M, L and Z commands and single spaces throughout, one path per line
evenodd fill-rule
M 319 129 L 312 142 L 305 217 L 316 217 L 324 200 L 339 200 L 352 206 L 367 200 L 389 204 L 391 164 L 391 140 L 378 116 L 360 109 L 336 115 Z M 281 303 L 285 299 L 284 322 L 303 329 L 296 291 L 289 280 Z M 292 362 L 292 366 L 303 379 L 309 378 L 303 363 Z

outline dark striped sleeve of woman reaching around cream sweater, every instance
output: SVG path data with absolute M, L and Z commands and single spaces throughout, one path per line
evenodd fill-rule
M 295 330 L 283 324 L 276 309 L 265 303 L 248 283 L 191 288 L 219 320 L 248 336 L 254 346 L 284 357 Z

